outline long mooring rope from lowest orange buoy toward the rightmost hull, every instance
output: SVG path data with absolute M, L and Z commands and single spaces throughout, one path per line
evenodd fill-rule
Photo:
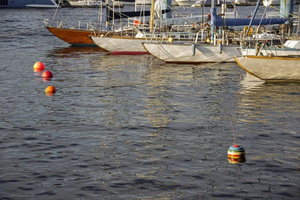
M 231 59 L 231 57 L 223 59 L 223 60 L 220 60 L 218 62 L 214 62 L 214 63 L 209 63 L 209 64 L 206 64 L 206 65 L 203 65 L 203 66 L 198 67 L 196 69 L 192 69 L 191 71 L 179 72 L 179 73 L 177 73 L 175 75 L 169 75 L 169 77 L 162 76 L 162 77 L 158 77 L 158 78 L 150 78 L 150 79 L 146 79 L 146 80 L 137 80 L 137 81 L 128 81 L 128 82 L 122 82 L 122 83 L 112 84 L 112 85 L 102 84 L 102 85 L 70 85 L 70 86 L 74 86 L 74 87 L 111 87 L 112 88 L 112 87 L 123 87 L 123 86 L 134 86 L 134 85 L 146 84 L 146 83 L 154 82 L 155 80 L 156 81 L 162 81 L 162 80 L 170 79 L 170 78 L 177 77 L 177 76 L 180 76 L 180 75 L 184 75 L 184 74 L 187 74 L 187 73 L 190 73 L 190 72 L 198 71 L 198 70 L 201 70 L 203 68 L 206 68 L 206 67 L 209 67 L 209 66 L 213 66 L 215 64 L 219 64 L 219 63 L 221 63 L 221 62 L 223 62 L 223 61 L 225 61 L 227 59 Z M 134 82 L 137 82 L 137 83 L 134 83 Z M 124 84 L 124 83 L 128 83 L 128 84 Z M 122 85 L 119 85 L 119 84 L 122 84 Z

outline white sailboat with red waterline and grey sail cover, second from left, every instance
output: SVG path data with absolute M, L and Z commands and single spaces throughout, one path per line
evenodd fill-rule
M 154 0 L 152 1 L 151 6 L 151 19 L 154 23 L 153 17 L 156 13 L 157 16 L 161 15 L 171 15 L 170 13 L 170 7 L 171 0 L 167 1 L 167 4 L 165 4 L 162 0 L 156 0 L 154 3 Z M 207 17 L 206 17 L 207 18 Z M 160 26 L 160 24 L 164 25 L 173 25 L 173 24 L 182 24 L 182 23 L 191 23 L 191 21 L 199 22 L 202 18 L 194 16 L 192 18 L 188 18 L 186 20 L 182 18 L 171 18 L 171 17 L 164 17 L 157 19 L 155 21 L 155 24 L 157 26 Z M 161 22 L 160 22 L 161 21 Z M 162 22 L 163 21 L 163 22 Z M 142 46 L 141 42 L 149 42 L 149 41 L 169 41 L 174 40 L 178 42 L 186 42 L 194 40 L 197 33 L 194 31 L 186 31 L 186 32 L 163 32 L 160 31 L 156 26 L 152 28 L 154 25 L 150 27 L 150 31 L 140 31 L 135 27 L 136 34 L 134 37 L 130 35 L 125 36 L 90 36 L 92 41 L 98 45 L 99 47 L 110 51 L 112 53 L 126 53 L 126 54 L 142 54 L 142 53 L 148 53 Z

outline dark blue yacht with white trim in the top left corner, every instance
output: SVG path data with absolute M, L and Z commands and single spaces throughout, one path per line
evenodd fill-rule
M 0 8 L 52 7 L 58 5 L 55 0 L 0 0 Z

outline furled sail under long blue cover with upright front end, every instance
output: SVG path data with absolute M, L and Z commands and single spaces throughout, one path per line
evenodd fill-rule
M 223 21 L 224 20 L 224 21 Z M 211 8 L 211 25 L 214 26 L 239 26 L 249 25 L 251 18 L 225 18 L 216 14 L 216 9 Z M 266 24 L 281 24 L 287 21 L 287 18 L 254 18 L 252 25 L 266 25 Z M 224 24 L 223 24 L 224 22 Z

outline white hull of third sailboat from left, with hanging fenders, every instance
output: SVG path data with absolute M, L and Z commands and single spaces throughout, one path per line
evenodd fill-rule
M 167 63 L 205 63 L 235 62 L 234 56 L 240 56 L 239 45 L 219 46 L 191 43 L 143 43 L 144 48 L 153 56 Z M 221 52 L 221 53 L 220 53 Z

